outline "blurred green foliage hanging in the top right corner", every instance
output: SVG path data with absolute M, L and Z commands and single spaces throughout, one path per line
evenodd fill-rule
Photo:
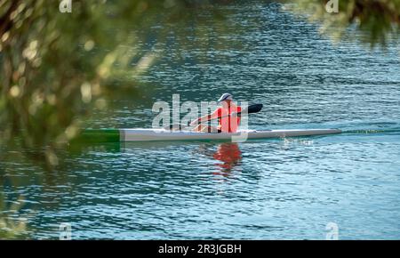
M 339 41 L 359 39 L 371 47 L 397 42 L 400 33 L 400 0 L 338 0 L 339 12 L 326 12 L 327 0 L 284 1 L 286 9 L 321 22 L 321 32 Z M 294 3 L 294 4 L 293 4 Z M 331 4 L 332 2 L 330 2 Z M 332 6 L 332 5 L 331 5 Z M 348 28 L 356 28 L 348 29 Z

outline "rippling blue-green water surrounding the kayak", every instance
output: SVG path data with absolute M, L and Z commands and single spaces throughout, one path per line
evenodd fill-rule
M 400 49 L 332 44 L 277 4 L 227 6 L 245 33 L 168 51 L 141 78 L 143 101 L 116 100 L 92 127 L 149 127 L 154 101 L 263 103 L 250 127 L 340 128 L 340 135 L 222 142 L 108 143 L 65 153 L 58 173 L 3 162 L 7 205 L 25 198 L 30 238 L 400 238 Z M 209 28 L 210 34 L 216 28 Z M 174 34 L 176 33 L 176 35 Z M 232 42 L 220 47 L 219 37 Z M 240 42 L 240 44 L 237 44 Z M 152 38 L 143 44 L 156 45 Z M 154 44 L 154 45 L 153 45 Z M 163 47 L 161 47 L 163 48 Z M 204 54 L 204 49 L 207 52 Z M 11 150 L 9 150 L 11 152 Z

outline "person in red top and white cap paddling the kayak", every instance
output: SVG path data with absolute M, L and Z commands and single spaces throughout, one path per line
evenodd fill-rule
M 192 126 L 196 125 L 193 131 L 204 133 L 236 133 L 240 125 L 240 117 L 235 116 L 235 113 L 241 112 L 242 108 L 234 103 L 233 96 L 229 93 L 222 94 L 218 102 L 222 104 L 222 107 L 215 109 L 211 115 L 199 117 L 190 123 Z M 217 127 L 200 124 L 213 119 L 218 119 Z

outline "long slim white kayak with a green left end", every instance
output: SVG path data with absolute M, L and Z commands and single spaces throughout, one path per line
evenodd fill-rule
M 190 131 L 169 131 L 164 129 L 86 129 L 81 135 L 83 141 L 227 141 L 239 136 L 246 139 L 268 139 L 298 136 L 313 136 L 341 133 L 339 129 L 292 129 L 292 130 L 243 130 L 237 133 L 197 133 Z

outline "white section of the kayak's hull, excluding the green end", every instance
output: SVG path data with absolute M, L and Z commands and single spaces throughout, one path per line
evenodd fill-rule
M 284 138 L 341 133 L 339 129 L 292 129 L 238 133 L 171 132 L 164 129 L 119 129 L 120 141 L 245 141 L 251 139 Z

